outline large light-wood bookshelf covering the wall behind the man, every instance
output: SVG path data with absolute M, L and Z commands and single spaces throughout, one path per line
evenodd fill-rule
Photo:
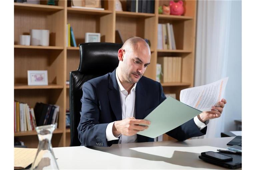
M 181 56 L 181 82 L 161 83 L 165 93 L 175 93 L 194 84 L 196 1 L 185 0 L 183 16 L 158 14 L 158 7 L 168 0 L 155 1 L 155 13 L 115 11 L 115 2 L 106 0 L 105 10 L 88 10 L 68 7 L 68 1 L 58 1 L 58 6 L 14 3 L 14 99 L 34 107 L 36 102 L 60 106 L 58 128 L 52 137 L 53 147 L 69 146 L 70 128 L 66 129 L 66 109 L 69 109 L 69 72 L 79 66 L 79 43 L 85 42 L 85 33 L 101 33 L 101 42 L 115 42 L 118 30 L 126 40 L 132 36 L 151 42 L 151 64 L 145 76 L 156 79 L 157 58 Z M 176 50 L 157 49 L 158 23 L 173 24 Z M 66 25 L 74 31 L 77 47 L 66 47 Z M 28 35 L 30 29 L 50 30 L 49 46 L 19 45 L 19 35 Z M 27 70 L 47 70 L 48 86 L 28 86 Z M 35 131 L 16 132 L 26 146 L 37 147 Z M 164 136 L 165 140 L 172 140 Z

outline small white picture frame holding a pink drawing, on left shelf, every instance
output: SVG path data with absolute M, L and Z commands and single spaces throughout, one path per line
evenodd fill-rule
M 28 70 L 28 85 L 48 85 L 47 70 Z

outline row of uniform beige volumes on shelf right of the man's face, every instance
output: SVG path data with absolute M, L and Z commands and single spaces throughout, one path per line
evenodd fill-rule
M 157 62 L 161 64 L 162 83 L 181 82 L 181 57 L 158 57 Z

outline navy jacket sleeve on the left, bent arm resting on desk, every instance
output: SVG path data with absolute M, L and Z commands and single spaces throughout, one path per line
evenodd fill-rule
M 113 141 L 107 141 L 106 128 L 108 123 L 99 123 L 99 102 L 95 87 L 85 82 L 82 87 L 81 119 L 78 125 L 78 138 L 84 146 L 111 146 Z

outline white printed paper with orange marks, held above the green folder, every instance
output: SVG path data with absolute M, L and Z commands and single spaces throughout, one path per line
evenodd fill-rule
M 200 111 L 211 111 L 223 98 L 228 77 L 213 83 L 180 91 L 180 101 Z

